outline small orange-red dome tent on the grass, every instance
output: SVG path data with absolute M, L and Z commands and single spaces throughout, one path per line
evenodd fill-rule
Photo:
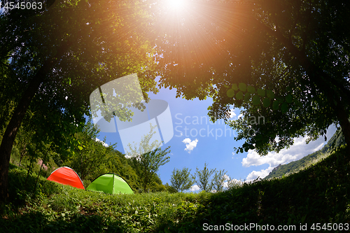
M 61 183 L 62 185 L 71 185 L 85 190 L 80 177 L 70 167 L 59 167 L 55 171 L 52 171 L 48 177 L 48 181 L 54 181 L 56 183 Z

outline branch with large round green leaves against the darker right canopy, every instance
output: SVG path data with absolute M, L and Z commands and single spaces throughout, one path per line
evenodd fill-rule
M 300 101 L 293 98 L 292 89 L 287 87 L 285 96 L 279 96 L 274 94 L 272 90 L 265 90 L 261 88 L 255 88 L 246 83 L 233 83 L 232 86 L 224 85 L 228 88 L 226 94 L 228 97 L 236 101 L 245 101 L 253 106 L 263 106 L 265 108 L 272 108 L 274 111 L 281 110 L 281 113 L 286 113 L 288 108 L 294 102 L 295 106 L 302 106 Z

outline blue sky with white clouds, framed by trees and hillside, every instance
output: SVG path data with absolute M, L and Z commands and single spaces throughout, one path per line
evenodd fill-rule
M 279 164 L 300 160 L 314 153 L 326 143 L 323 137 L 309 144 L 306 143 L 306 138 L 298 138 L 293 146 L 281 150 L 280 153 L 269 153 L 260 157 L 255 151 L 249 150 L 247 153 L 236 154 L 234 147 L 241 146 L 244 141 L 235 141 L 237 132 L 223 124 L 222 120 L 215 124 L 209 121 L 207 108 L 211 106 L 212 99 L 188 101 L 175 96 L 176 90 L 167 88 L 161 88 L 158 94 L 149 94 L 151 99 L 167 101 L 172 115 L 174 136 L 162 146 L 162 149 L 171 147 L 171 153 L 168 154 L 170 161 L 160 167 L 158 172 L 163 184 L 170 184 L 174 168 L 187 167 L 193 174 L 196 167 L 203 169 L 204 163 L 207 163 L 209 169 L 225 169 L 230 178 L 253 181 L 258 176 L 264 178 Z M 239 114 L 239 109 L 232 110 L 232 119 L 237 119 Z M 327 138 L 330 139 L 334 132 L 335 127 L 328 129 Z M 118 143 L 116 149 L 124 153 L 118 132 L 101 132 L 99 139 L 104 136 L 106 143 Z M 192 190 L 197 191 L 197 186 Z

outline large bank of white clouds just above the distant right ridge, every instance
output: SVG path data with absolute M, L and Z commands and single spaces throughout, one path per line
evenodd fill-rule
M 331 126 L 328 128 L 327 138 L 330 139 L 334 133 L 335 127 Z M 265 176 L 279 164 L 287 164 L 300 160 L 302 157 L 320 150 L 325 145 L 323 136 L 319 137 L 316 141 L 311 141 L 309 144 L 307 144 L 306 141 L 307 136 L 294 139 L 294 144 L 290 146 L 290 148 L 283 149 L 279 151 L 279 153 L 270 152 L 265 156 L 258 155 L 255 150 L 248 150 L 247 156 L 241 162 L 243 167 L 260 166 L 262 164 L 269 164 L 269 167 L 260 171 L 252 171 L 246 177 L 246 181 L 253 181 L 258 178 L 258 176 L 260 178 L 265 178 Z

